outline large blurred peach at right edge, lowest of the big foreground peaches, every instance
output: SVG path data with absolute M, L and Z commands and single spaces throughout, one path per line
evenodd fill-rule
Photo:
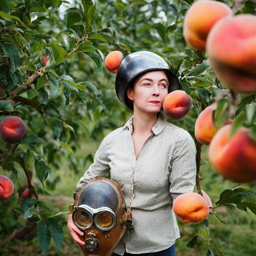
M 209 161 L 226 179 L 238 183 L 256 180 L 256 142 L 245 127 L 229 139 L 231 128 L 227 124 L 217 131 L 209 145 Z

